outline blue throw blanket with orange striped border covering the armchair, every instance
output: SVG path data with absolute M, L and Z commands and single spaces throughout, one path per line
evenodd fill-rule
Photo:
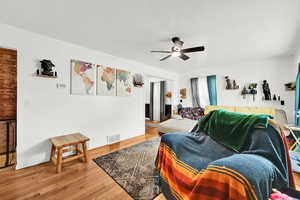
M 203 131 L 162 136 L 156 167 L 168 199 L 265 200 L 289 186 L 284 143 L 275 128 L 254 129 L 241 153 Z

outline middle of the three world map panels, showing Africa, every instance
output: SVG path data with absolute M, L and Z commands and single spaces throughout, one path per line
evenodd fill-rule
M 97 95 L 117 95 L 115 68 L 97 65 Z

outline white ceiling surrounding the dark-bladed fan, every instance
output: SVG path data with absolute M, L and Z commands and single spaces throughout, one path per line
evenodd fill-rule
M 0 22 L 184 73 L 291 55 L 299 8 L 299 0 L 2 0 Z M 206 51 L 160 62 L 149 51 L 169 50 L 173 36 Z

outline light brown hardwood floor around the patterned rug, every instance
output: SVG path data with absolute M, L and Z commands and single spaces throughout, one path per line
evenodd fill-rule
M 90 150 L 90 157 L 117 151 L 122 148 L 158 137 L 155 127 L 146 127 L 146 134 Z M 300 175 L 297 175 L 300 187 Z M 0 172 L 1 200 L 131 200 L 131 197 L 93 161 L 66 163 L 61 173 L 48 162 L 21 170 Z M 165 200 L 163 195 L 155 200 Z

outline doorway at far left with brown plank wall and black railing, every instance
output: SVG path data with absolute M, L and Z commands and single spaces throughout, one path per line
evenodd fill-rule
M 17 51 L 0 48 L 0 169 L 16 164 Z

